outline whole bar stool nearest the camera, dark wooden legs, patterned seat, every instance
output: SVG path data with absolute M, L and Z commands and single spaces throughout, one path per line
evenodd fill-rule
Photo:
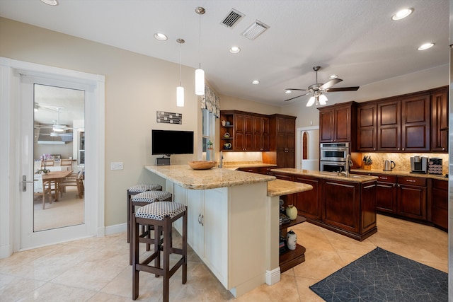
M 183 246 L 173 248 L 172 223 L 183 218 Z M 139 226 L 154 225 L 154 239 L 146 238 L 154 243 L 154 252 L 139 262 Z M 162 238 L 161 235 L 162 234 Z M 187 281 L 187 207 L 178 202 L 153 202 L 135 211 L 132 217 L 132 300 L 139 296 L 139 272 L 149 272 L 156 277 L 164 277 L 163 296 L 168 302 L 170 278 L 179 267 L 183 267 L 183 284 Z M 163 267 L 161 267 L 161 252 L 163 252 Z M 170 267 L 170 254 L 181 255 L 180 260 Z M 154 260 L 154 265 L 149 263 Z

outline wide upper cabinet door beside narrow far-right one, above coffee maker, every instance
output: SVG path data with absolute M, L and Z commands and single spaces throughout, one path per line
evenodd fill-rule
M 401 151 L 430 150 L 430 95 L 401 100 Z

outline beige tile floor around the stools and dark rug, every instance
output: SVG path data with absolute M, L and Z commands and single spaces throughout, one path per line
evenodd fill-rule
M 294 226 L 306 261 L 289 269 L 273 286 L 263 284 L 237 301 L 322 301 L 311 284 L 379 246 L 444 272 L 447 233 L 378 215 L 378 233 L 363 242 L 311 223 Z M 144 255 L 144 253 L 142 253 Z M 234 301 L 191 250 L 188 282 L 180 271 L 171 279 L 171 301 Z M 161 301 L 161 278 L 140 273 L 137 301 Z M 0 301 L 132 301 L 132 269 L 126 234 L 87 238 L 16 252 L 0 260 Z

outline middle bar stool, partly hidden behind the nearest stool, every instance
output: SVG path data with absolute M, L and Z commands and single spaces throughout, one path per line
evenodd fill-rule
M 135 207 L 143 207 L 152 202 L 171 202 L 171 193 L 166 191 L 145 191 L 138 193 L 132 196 L 130 199 L 129 206 L 129 221 L 132 221 L 132 216 L 134 216 Z M 142 234 L 139 235 L 140 238 L 151 238 L 151 230 L 153 226 L 151 225 L 142 225 Z M 132 228 L 130 230 L 132 236 Z M 156 235 L 154 235 L 156 236 Z M 144 240 L 143 242 L 147 242 Z M 147 242 L 147 250 L 150 249 L 150 243 Z M 129 264 L 132 265 L 132 240 L 129 248 Z

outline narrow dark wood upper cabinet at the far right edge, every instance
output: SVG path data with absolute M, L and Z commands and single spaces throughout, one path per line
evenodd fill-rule
M 431 93 L 431 151 L 448 152 L 448 87 Z

